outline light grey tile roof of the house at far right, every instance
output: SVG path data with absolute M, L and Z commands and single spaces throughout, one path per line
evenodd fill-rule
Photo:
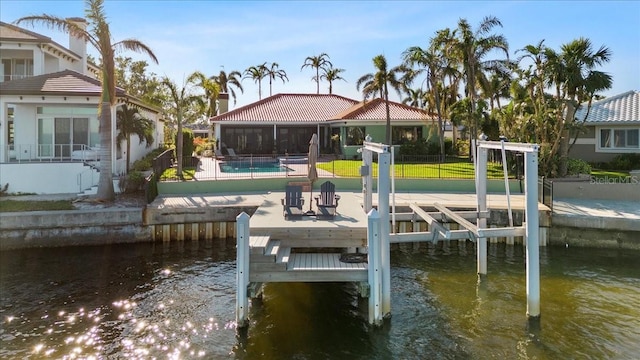
M 584 119 L 587 111 L 583 104 L 576 111 L 576 119 Z M 640 124 L 640 91 L 625 93 L 594 101 L 586 124 Z

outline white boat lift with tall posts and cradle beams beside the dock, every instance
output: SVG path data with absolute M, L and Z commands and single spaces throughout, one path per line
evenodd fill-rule
M 368 138 L 367 140 L 370 140 Z M 389 198 L 395 197 L 393 177 L 390 176 L 390 146 L 365 141 L 362 147 L 362 192 L 364 210 L 368 214 L 368 253 L 369 253 L 369 322 L 380 324 L 385 317 L 391 315 L 391 276 L 390 276 L 390 244 L 400 242 L 417 242 L 439 240 L 470 239 L 476 242 L 477 272 L 482 279 L 487 274 L 487 238 L 497 236 L 524 236 L 526 238 L 526 287 L 527 316 L 540 316 L 540 256 L 539 256 L 539 219 L 538 219 L 538 150 L 537 144 L 508 143 L 505 141 L 478 141 L 476 143 L 476 198 L 477 209 L 456 212 L 435 203 L 438 211 L 427 213 L 417 204 L 410 204 L 414 214 L 429 224 L 429 231 L 412 233 L 391 233 L 389 221 Z M 514 151 L 524 154 L 525 174 L 525 223 L 513 226 L 510 199 L 508 227 L 488 228 L 487 217 L 487 162 L 488 150 Z M 378 207 L 372 205 L 372 171 L 373 153 L 378 155 Z M 504 159 L 504 157 L 503 157 Z M 505 173 L 505 177 L 507 174 Z M 508 183 L 505 180 L 506 195 Z M 392 193 L 390 194 L 390 189 Z M 395 204 L 394 204 L 395 205 Z M 395 208 L 395 206 L 394 206 Z M 475 224 L 471 221 L 475 218 Z M 460 230 L 450 230 L 444 221 L 454 221 Z

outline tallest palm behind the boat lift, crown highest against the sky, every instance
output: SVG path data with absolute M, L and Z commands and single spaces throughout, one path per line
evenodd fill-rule
M 474 30 L 466 19 L 458 21 L 455 32 L 457 54 L 462 60 L 466 78 L 466 94 L 471 100 L 470 116 L 475 112 L 477 99 L 478 75 L 488 66 L 496 66 L 499 60 L 484 60 L 484 57 L 494 51 L 502 50 L 509 57 L 509 44 L 503 35 L 490 34 L 494 27 L 502 27 L 502 23 L 494 16 L 486 16 Z M 471 136 L 477 137 L 478 124 L 471 124 Z M 471 151 L 471 149 L 469 149 Z

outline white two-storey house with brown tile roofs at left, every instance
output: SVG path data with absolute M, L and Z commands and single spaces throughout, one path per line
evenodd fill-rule
M 74 18 L 86 26 L 84 19 Z M 87 60 L 86 42 L 69 36 L 69 48 L 0 22 L 0 184 L 11 193 L 79 193 L 97 185 L 100 69 Z M 116 112 L 135 106 L 154 121 L 154 144 L 131 141 L 131 161 L 164 138 L 160 110 L 116 90 Z M 121 146 L 118 146 L 121 145 Z M 113 144 L 114 176 L 126 171 L 126 146 Z M 116 186 L 117 190 L 118 187 Z

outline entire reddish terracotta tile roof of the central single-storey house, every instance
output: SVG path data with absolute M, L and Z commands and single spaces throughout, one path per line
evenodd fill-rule
M 392 119 L 419 120 L 426 112 L 407 105 L 390 102 Z M 214 123 L 321 123 L 332 120 L 386 119 L 384 101 L 366 103 L 334 94 L 276 94 L 210 119 Z

